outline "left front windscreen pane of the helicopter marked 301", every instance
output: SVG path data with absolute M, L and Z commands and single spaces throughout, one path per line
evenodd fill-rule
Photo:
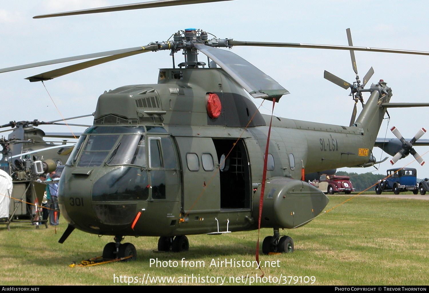
M 78 167 L 101 166 L 118 140 L 119 135 L 90 135 L 86 141 Z

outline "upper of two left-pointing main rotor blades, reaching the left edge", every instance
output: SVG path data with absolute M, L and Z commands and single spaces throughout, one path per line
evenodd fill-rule
M 57 64 L 57 63 L 64 63 L 64 62 L 69 62 L 69 61 L 77 61 L 77 60 L 91 59 L 91 58 L 97 58 L 97 57 L 103 57 L 103 56 L 112 56 L 112 55 L 123 54 L 123 53 L 134 52 L 134 51 L 141 51 L 141 50 L 147 49 L 148 47 L 149 46 L 126 48 L 126 49 L 105 51 L 105 52 L 99 52 L 99 53 L 85 54 L 85 55 L 79 55 L 79 56 L 73 56 L 73 57 L 66 57 L 66 58 L 60 58 L 60 59 L 24 64 L 24 65 L 0 69 L 0 73 L 15 71 L 15 70 L 21 70 L 21 69 L 27 69 L 27 68 L 33 68 L 33 67 L 39 67 L 39 66 L 45 66 L 45 65 L 51 65 L 51 64 Z

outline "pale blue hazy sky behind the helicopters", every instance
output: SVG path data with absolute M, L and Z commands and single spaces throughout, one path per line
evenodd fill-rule
M 125 3 L 133 1 L 3 1 L 0 6 L 0 67 L 146 45 L 166 40 L 172 33 L 187 27 L 236 40 L 332 45 L 347 45 L 345 30 L 350 27 L 356 46 L 429 51 L 429 4 L 426 1 L 234 0 L 98 15 L 32 18 L 50 12 Z M 278 116 L 348 125 L 353 108 L 348 91 L 323 79 L 323 70 L 328 70 L 349 82 L 354 81 L 348 51 L 250 47 L 236 47 L 233 51 L 290 91 L 291 94 L 276 105 Z M 429 56 L 355 54 L 361 78 L 373 66 L 375 74 L 369 84 L 382 78 L 392 87 L 391 102 L 427 102 Z M 180 58 L 178 54 L 176 62 L 180 62 Z M 158 69 L 170 66 L 168 52 L 146 53 L 46 81 L 45 85 L 64 117 L 78 116 L 92 113 L 104 90 L 127 84 L 156 83 Z M 42 84 L 23 79 L 57 67 L 0 74 L 3 102 L 0 124 L 11 120 L 60 119 Z M 259 105 L 260 101 L 255 103 Z M 265 107 L 269 108 L 268 103 Z M 429 129 L 428 110 L 391 109 L 389 128 L 396 126 L 402 135 L 411 138 L 421 127 Z M 263 109 L 262 112 L 269 111 Z M 78 122 L 91 124 L 91 119 Z M 52 127 L 43 129 L 46 132 L 66 131 Z M 386 129 L 387 120 L 378 136 L 384 137 Z M 429 138 L 429 134 L 426 135 L 423 138 Z M 388 131 L 387 137 L 392 138 L 393 134 Z M 427 150 L 429 147 L 417 148 L 420 154 Z M 385 156 L 379 151 L 375 155 Z M 417 167 L 419 177 L 428 177 L 429 154 L 423 158 L 428 161 L 427 167 L 417 163 L 409 167 Z M 401 167 L 411 161 L 412 156 L 409 156 L 395 166 Z M 381 173 L 388 168 L 387 162 L 381 164 Z M 374 168 L 345 170 L 361 173 Z

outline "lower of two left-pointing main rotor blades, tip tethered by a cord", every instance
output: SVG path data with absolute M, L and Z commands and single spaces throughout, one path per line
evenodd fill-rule
M 117 60 L 117 59 L 121 59 L 124 57 L 129 57 L 129 56 L 133 56 L 136 54 L 141 54 L 141 53 L 145 53 L 145 52 L 151 52 L 152 50 L 154 50 L 156 48 L 158 48 L 157 45 L 150 45 L 147 47 L 140 47 L 139 51 L 132 51 L 132 52 L 127 52 L 127 53 L 122 53 L 122 54 L 116 54 L 113 56 L 107 56 L 107 57 L 102 57 L 102 58 L 98 58 L 98 59 L 94 59 L 94 60 L 89 60 L 89 61 L 85 61 L 85 62 L 81 62 L 81 63 L 77 63 L 77 64 L 73 64 L 70 66 L 66 66 L 66 67 L 62 67 L 59 69 L 54 69 L 48 72 L 43 72 L 40 73 L 38 75 L 33 75 L 30 77 L 27 77 L 25 79 L 28 79 L 30 82 L 34 82 L 34 81 L 47 81 L 53 78 L 57 78 L 59 76 L 62 75 L 66 75 L 72 72 L 76 72 L 85 68 L 89 68 L 92 66 L 96 66 L 99 64 L 103 64 L 109 61 L 113 61 L 113 60 Z M 142 49 L 142 48 L 153 48 L 153 49 Z

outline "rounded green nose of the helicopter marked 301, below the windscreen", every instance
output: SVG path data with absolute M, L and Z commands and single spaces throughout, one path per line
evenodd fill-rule
M 96 234 L 130 228 L 136 210 L 148 199 L 145 170 L 125 166 L 69 169 L 60 182 L 59 201 L 70 224 Z

